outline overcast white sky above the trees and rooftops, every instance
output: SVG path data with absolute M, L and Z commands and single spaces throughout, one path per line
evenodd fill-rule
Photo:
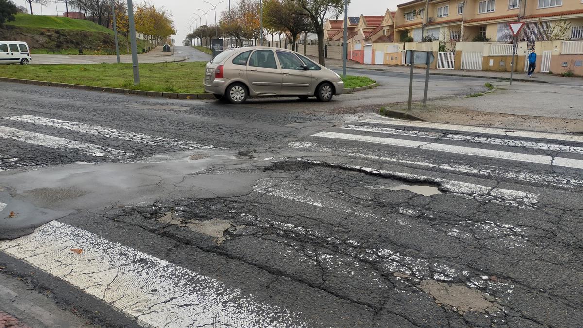
M 29 8 L 28 4 L 24 0 L 12 0 L 17 5 L 24 5 L 26 8 Z M 143 1 L 134 0 L 134 4 L 141 3 Z M 196 17 L 192 13 L 198 13 L 201 15 L 202 11 L 197 9 L 204 9 L 208 11 L 212 9 L 212 6 L 206 4 L 202 0 L 149 0 L 150 3 L 154 4 L 155 6 L 164 6 L 168 11 L 172 12 L 174 25 L 177 30 L 177 34 L 174 37 L 177 43 L 180 43 L 185 35 L 188 33 L 188 20 L 192 20 L 191 16 Z M 208 0 L 212 4 L 217 4 L 220 0 Z M 231 5 L 236 3 L 236 0 L 231 0 Z M 352 4 L 350 4 L 348 8 L 348 13 L 350 16 L 360 16 L 360 14 L 364 15 L 384 15 L 387 8 L 391 10 L 396 10 L 397 5 L 408 2 L 408 0 L 352 0 Z M 222 4 L 217 6 L 217 15 L 224 9 L 229 7 L 229 1 L 225 0 Z M 69 9 L 71 10 L 71 9 Z M 35 14 L 42 13 L 44 15 L 55 15 L 55 13 L 59 13 L 62 15 L 62 12 L 65 11 L 65 4 L 59 2 L 55 7 L 55 2 L 51 2 L 50 5 L 41 8 L 39 5 L 33 4 L 33 12 Z M 202 15 L 202 22 L 205 23 L 204 15 Z M 209 24 L 215 23 L 215 15 L 211 10 L 208 12 L 206 17 L 209 20 Z M 217 16 L 217 19 L 219 17 Z M 201 25 L 200 22 L 197 23 L 198 26 Z

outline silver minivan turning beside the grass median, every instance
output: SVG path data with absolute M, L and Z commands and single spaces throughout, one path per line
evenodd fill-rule
M 294 51 L 271 47 L 230 48 L 206 64 L 205 92 L 233 104 L 249 96 L 317 97 L 344 92 L 338 74 Z

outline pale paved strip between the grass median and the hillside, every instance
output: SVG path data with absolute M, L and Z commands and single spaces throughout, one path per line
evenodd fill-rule
M 178 53 L 177 53 L 178 54 Z M 114 64 L 115 55 L 32 55 L 30 64 Z M 147 54 L 138 55 L 141 64 L 152 62 L 184 61 L 185 57 L 175 56 L 172 52 L 163 52 L 162 47 L 156 47 Z M 120 55 L 121 62 L 132 62 L 132 55 Z

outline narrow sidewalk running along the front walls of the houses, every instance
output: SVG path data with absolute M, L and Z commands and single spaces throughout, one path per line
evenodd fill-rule
M 327 67 L 342 67 L 342 60 L 331 60 L 326 59 Z M 357 68 L 357 69 L 372 69 L 374 71 L 384 71 L 384 72 L 398 72 L 398 73 L 409 73 L 409 67 L 401 65 L 371 65 L 371 64 L 360 64 L 355 61 L 348 61 L 347 67 Z M 425 68 L 416 67 L 415 73 L 421 74 L 425 72 Z M 431 69 L 431 75 L 449 75 L 449 76 L 465 76 L 473 78 L 491 78 L 491 79 L 510 79 L 510 72 L 487 72 L 487 71 L 456 71 L 454 69 Z M 556 76 L 552 74 L 535 74 L 533 78 L 526 76 L 526 72 L 514 73 L 513 79 L 528 81 L 528 82 L 542 82 L 542 83 L 555 83 L 564 85 L 583 85 L 583 78 L 563 78 L 561 76 Z

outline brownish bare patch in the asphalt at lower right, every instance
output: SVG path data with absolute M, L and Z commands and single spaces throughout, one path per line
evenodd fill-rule
M 445 304 L 454 307 L 458 312 L 499 312 L 500 308 L 494 298 L 477 289 L 465 285 L 447 284 L 435 280 L 424 280 L 421 289 L 436 299 L 439 305 Z

